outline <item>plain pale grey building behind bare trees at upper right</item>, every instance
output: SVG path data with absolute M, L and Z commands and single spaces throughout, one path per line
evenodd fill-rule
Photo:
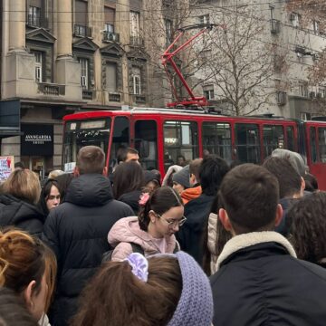
M 228 91 L 235 94 L 240 90 L 248 95 L 240 101 L 241 114 L 267 113 L 304 120 L 320 115 L 325 87 L 312 82 L 310 68 L 326 46 L 326 34 L 319 22 L 304 22 L 301 14 L 289 12 L 286 3 L 200 0 L 194 5 L 194 21 L 216 24 L 220 31 L 213 34 L 211 42 L 203 42 L 199 56 L 210 64 L 197 72 L 201 81 L 197 92 L 205 94 L 218 110 L 237 113 L 237 99 Z M 230 42 L 223 41 L 226 34 Z M 245 37 L 246 42 L 241 43 Z M 245 45 L 236 48 L 233 38 Z M 228 53 L 221 51 L 226 46 L 230 46 L 229 53 L 235 50 L 240 55 L 226 60 Z M 253 108 L 256 110 L 251 111 Z

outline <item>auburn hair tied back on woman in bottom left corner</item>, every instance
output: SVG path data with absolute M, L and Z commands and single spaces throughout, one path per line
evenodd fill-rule
M 42 241 L 16 229 L 0 232 L 0 286 L 16 293 L 24 291 L 35 281 L 34 291 L 41 291 L 45 273 L 48 293 L 45 309 L 50 305 L 56 274 L 56 262 L 52 251 Z

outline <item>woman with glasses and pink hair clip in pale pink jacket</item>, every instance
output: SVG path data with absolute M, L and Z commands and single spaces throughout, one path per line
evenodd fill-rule
M 173 254 L 179 250 L 175 233 L 186 222 L 184 206 L 177 192 L 159 187 L 140 201 L 139 216 L 121 218 L 110 229 L 109 244 L 114 247 L 112 261 L 121 261 L 135 248 L 141 254 Z

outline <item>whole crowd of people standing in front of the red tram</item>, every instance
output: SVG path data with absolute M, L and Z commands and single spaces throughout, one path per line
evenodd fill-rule
M 42 183 L 17 167 L 0 186 L 0 325 L 324 325 L 326 193 L 302 157 L 179 158 L 163 180 L 129 148 L 109 176 L 95 146 Z

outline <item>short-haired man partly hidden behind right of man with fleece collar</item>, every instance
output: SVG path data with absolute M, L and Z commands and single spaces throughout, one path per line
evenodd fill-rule
M 303 197 L 303 190 L 305 187 L 304 179 L 300 177 L 297 170 L 293 168 L 288 158 L 266 158 L 263 167 L 267 168 L 278 180 L 283 217 L 280 225 L 275 227 L 275 231 L 287 236 L 289 235 L 291 222 L 286 220 L 286 214 L 292 205 L 294 205 L 299 198 Z

